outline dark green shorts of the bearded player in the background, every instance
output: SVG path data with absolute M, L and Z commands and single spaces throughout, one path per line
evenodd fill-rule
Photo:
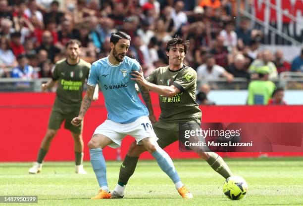
M 74 126 L 71 124 L 71 121 L 78 117 L 80 112 L 80 107 L 77 107 L 76 110 L 64 110 L 59 107 L 53 106 L 51 113 L 50 113 L 50 119 L 49 119 L 49 129 L 58 130 L 65 120 L 64 128 L 70 130 L 71 132 L 75 134 L 81 134 L 83 129 L 83 121 L 80 126 Z

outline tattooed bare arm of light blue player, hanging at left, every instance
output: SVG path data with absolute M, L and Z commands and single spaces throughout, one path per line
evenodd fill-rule
M 83 121 L 84 115 L 86 113 L 86 111 L 90 108 L 92 100 L 93 100 L 93 95 L 95 92 L 95 87 L 96 86 L 90 86 L 87 85 L 87 90 L 86 93 L 83 97 L 82 103 L 81 103 L 81 108 L 80 108 L 80 113 L 78 117 L 75 117 L 71 124 L 73 124 L 74 126 L 80 126 L 81 122 Z

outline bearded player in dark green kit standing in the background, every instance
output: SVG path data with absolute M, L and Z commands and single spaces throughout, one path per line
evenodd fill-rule
M 71 121 L 79 114 L 83 85 L 85 79 L 89 76 L 91 64 L 80 59 L 81 42 L 78 40 L 69 40 L 66 43 L 66 53 L 67 58 L 56 63 L 50 81 L 42 84 L 42 91 L 46 91 L 58 82 L 48 130 L 41 142 L 37 162 L 29 169 L 31 174 L 41 172 L 42 162 L 50 148 L 51 140 L 64 120 L 64 128 L 71 131 L 75 143 L 76 173 L 86 174 L 82 164 L 84 148 L 82 138 L 83 125 L 74 126 Z M 98 90 L 99 88 L 95 90 L 94 100 L 98 99 Z

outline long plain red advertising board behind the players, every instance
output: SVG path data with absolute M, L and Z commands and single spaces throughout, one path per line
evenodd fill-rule
M 0 93 L 0 162 L 35 161 L 47 130 L 54 93 Z M 158 97 L 152 93 L 155 115 L 160 108 Z M 121 104 L 123 101 L 121 100 Z M 235 122 L 235 123 L 302 123 L 303 106 L 202 106 L 202 122 Z M 106 119 L 104 99 L 92 103 L 84 120 L 83 139 L 85 143 L 84 159 L 89 160 L 87 143 L 95 128 Z M 286 137 L 288 138 L 288 137 Z M 291 137 L 289 137 L 291 138 Z M 127 136 L 121 147 L 122 158 L 134 139 Z M 60 129 L 53 139 L 46 161 L 73 161 L 73 139 L 70 132 Z M 170 145 L 166 151 L 172 158 L 198 158 L 194 153 L 179 152 L 178 143 Z M 107 160 L 116 159 L 116 150 L 105 148 L 103 152 Z M 261 153 L 222 153 L 228 157 L 258 157 Z M 302 153 L 268 153 L 269 156 L 303 156 Z M 148 153 L 142 159 L 152 159 Z

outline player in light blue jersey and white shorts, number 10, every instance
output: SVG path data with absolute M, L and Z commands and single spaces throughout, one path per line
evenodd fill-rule
M 120 147 L 121 141 L 126 135 L 133 136 L 137 144 L 144 145 L 161 169 L 175 183 L 176 189 L 183 198 L 193 198 L 193 195 L 181 182 L 172 160 L 156 142 L 158 138 L 151 123 L 151 120 L 155 121 L 155 117 L 149 91 L 140 86 L 142 97 L 147 104 L 145 106 L 137 94 L 135 82 L 130 80 L 130 73 L 139 71 L 141 67 L 136 60 L 125 56 L 129 45 L 129 35 L 123 32 L 112 33 L 110 55 L 92 64 L 88 88 L 79 116 L 72 120 L 72 124 L 76 126 L 81 124 L 91 105 L 95 86 L 99 83 L 108 114 L 107 120 L 96 128 L 88 143 L 91 163 L 101 188 L 99 194 L 92 199 L 109 199 L 111 197 L 106 180 L 106 165 L 102 149 L 107 145 L 112 148 Z M 117 191 L 117 188 L 114 191 Z

